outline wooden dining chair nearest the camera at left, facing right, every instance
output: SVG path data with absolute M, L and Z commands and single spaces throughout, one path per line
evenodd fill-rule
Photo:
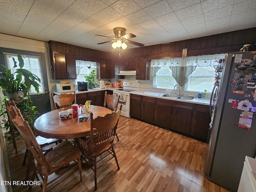
M 34 156 L 35 168 L 32 175 L 32 181 L 34 181 L 35 177 L 37 178 L 37 180 L 39 180 L 38 176 L 36 176 L 38 173 L 43 180 L 42 192 L 46 192 L 47 184 L 50 184 L 64 174 L 56 174 L 56 176 L 58 175 L 58 177 L 54 178 L 54 180 L 49 183 L 48 176 L 66 165 L 69 165 L 70 168 L 65 173 L 73 173 L 72 170 L 74 170 L 78 166 L 78 170 L 80 173 L 80 182 L 82 182 L 82 153 L 76 146 L 71 144 L 69 141 L 64 141 L 43 153 L 40 145 L 36 141 L 32 130 L 30 129 L 28 122 L 23 121 L 20 116 L 16 116 L 14 119 L 12 119 L 12 122 L 14 122 L 16 128 L 20 132 L 20 135 L 26 142 L 26 147 Z M 70 163 L 73 161 L 75 161 L 76 164 L 74 166 L 71 166 Z M 29 190 L 31 190 L 31 188 L 32 185 L 30 185 Z

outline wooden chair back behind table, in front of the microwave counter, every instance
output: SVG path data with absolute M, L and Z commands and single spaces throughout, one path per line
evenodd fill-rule
M 60 94 L 60 95 L 52 95 L 52 101 L 54 103 L 54 108 L 64 108 L 64 107 L 71 107 L 72 104 L 76 103 L 76 91 L 74 91 L 74 94 Z

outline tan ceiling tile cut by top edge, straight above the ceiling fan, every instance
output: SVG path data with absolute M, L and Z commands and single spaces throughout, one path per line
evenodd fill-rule
M 110 5 L 110 7 L 124 16 L 141 10 L 141 8 L 133 0 L 118 0 Z

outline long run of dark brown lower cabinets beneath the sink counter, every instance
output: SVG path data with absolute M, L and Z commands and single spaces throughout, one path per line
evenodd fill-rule
M 208 106 L 130 94 L 130 115 L 208 142 Z

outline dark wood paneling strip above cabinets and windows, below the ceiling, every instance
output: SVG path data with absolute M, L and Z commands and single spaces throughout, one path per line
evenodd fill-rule
M 133 48 L 128 50 L 121 49 L 121 57 L 118 56 L 118 51 L 108 53 L 61 42 L 50 41 L 49 43 L 52 44 L 53 52 L 73 54 L 91 58 L 91 60 L 112 60 L 136 56 L 146 56 L 147 60 L 151 60 L 181 57 L 184 48 L 188 49 L 188 56 L 237 52 L 244 44 L 256 43 L 256 28 L 226 32 L 166 44 L 145 46 L 143 48 Z

